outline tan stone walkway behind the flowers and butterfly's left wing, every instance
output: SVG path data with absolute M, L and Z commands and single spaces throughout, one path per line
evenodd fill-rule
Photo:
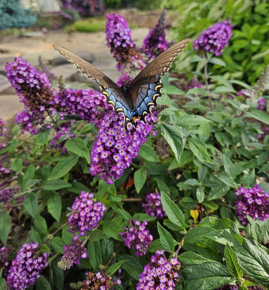
M 147 35 L 148 28 L 132 30 L 132 39 L 138 47 L 142 46 L 143 39 Z M 12 121 L 14 116 L 23 109 L 22 103 L 15 90 L 8 82 L 4 70 L 7 62 L 13 62 L 14 57 L 21 56 L 31 65 L 38 66 L 39 55 L 42 61 L 55 75 L 63 75 L 65 83 L 73 88 L 79 88 L 82 83 L 91 83 L 95 89 L 95 83 L 86 78 L 78 70 L 52 48 L 52 44 L 65 47 L 75 54 L 107 74 L 114 81 L 118 80 L 119 73 L 116 70 L 116 61 L 106 46 L 104 32 L 66 34 L 61 31 L 40 33 L 30 37 L 14 37 L 0 43 L 0 118 Z

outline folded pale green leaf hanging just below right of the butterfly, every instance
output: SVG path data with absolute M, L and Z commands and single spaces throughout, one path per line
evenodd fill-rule
M 183 151 L 183 137 L 180 128 L 178 126 L 162 124 L 160 125 L 160 134 L 166 139 L 175 154 L 176 160 L 180 163 Z

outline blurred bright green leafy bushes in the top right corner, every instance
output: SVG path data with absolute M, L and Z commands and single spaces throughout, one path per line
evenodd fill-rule
M 201 0 L 181 2 L 181 17 L 177 27 L 178 39 L 195 39 L 216 22 L 231 20 L 233 36 L 224 50 L 226 67 L 212 65 L 213 74 L 237 78 L 254 84 L 266 64 L 269 64 L 269 3 L 235 0 Z M 189 45 L 191 46 L 191 45 Z M 189 48 L 188 48 L 189 49 Z

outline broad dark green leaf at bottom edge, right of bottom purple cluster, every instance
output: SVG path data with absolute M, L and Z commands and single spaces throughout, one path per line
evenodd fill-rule
M 234 280 L 227 268 L 215 261 L 187 266 L 182 269 L 181 274 L 184 290 L 217 289 Z

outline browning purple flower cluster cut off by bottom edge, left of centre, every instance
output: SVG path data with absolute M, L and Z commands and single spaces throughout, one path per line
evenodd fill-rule
M 86 275 L 86 280 L 81 284 L 81 290 L 111 290 L 114 284 L 122 283 L 120 278 L 115 280 L 109 274 L 104 273 L 104 269 L 97 273 L 88 272 Z

